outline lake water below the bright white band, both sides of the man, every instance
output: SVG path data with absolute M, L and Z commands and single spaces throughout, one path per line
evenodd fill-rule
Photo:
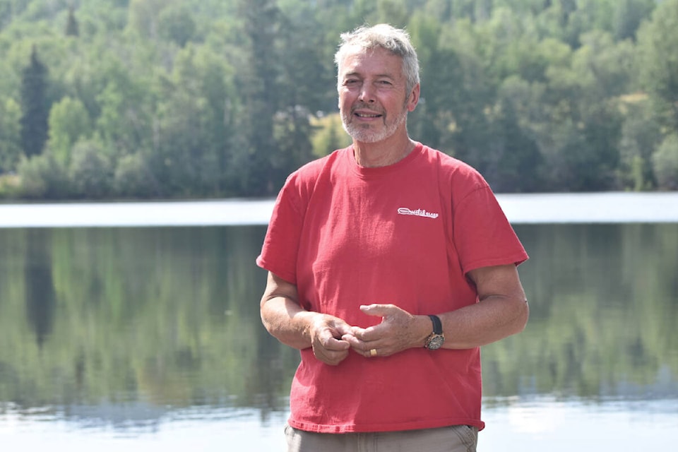
M 0 229 L 1 450 L 284 450 L 266 225 L 31 226 Z M 531 316 L 483 347 L 479 450 L 673 450 L 678 222 L 514 227 Z

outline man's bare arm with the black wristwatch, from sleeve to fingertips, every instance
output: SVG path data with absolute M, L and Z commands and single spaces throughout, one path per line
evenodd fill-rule
M 443 324 L 442 348 L 467 349 L 487 345 L 525 328 L 530 310 L 515 265 L 483 267 L 468 272 L 480 302 L 455 311 L 436 314 Z M 365 314 L 381 316 L 379 325 L 354 328 L 348 335 L 353 349 L 366 357 L 370 350 L 380 356 L 423 347 L 432 332 L 429 316 L 414 316 L 393 304 L 361 307 Z

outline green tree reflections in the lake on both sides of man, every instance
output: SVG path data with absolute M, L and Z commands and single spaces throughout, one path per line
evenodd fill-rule
M 0 412 L 127 428 L 186 410 L 285 412 L 298 354 L 259 319 L 265 231 L 0 230 Z M 678 225 L 516 232 L 531 317 L 484 347 L 485 405 L 678 400 Z

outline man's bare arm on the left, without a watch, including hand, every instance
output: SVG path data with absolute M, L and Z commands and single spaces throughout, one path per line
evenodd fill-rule
M 341 337 L 350 334 L 350 325 L 304 309 L 297 286 L 274 273 L 268 272 L 260 309 L 263 326 L 281 343 L 299 350 L 313 347 L 316 358 L 326 364 L 336 365 L 347 357 L 350 345 Z

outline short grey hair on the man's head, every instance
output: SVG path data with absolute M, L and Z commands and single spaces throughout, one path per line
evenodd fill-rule
M 359 47 L 359 49 L 368 50 L 381 47 L 388 50 L 403 59 L 403 74 L 405 75 L 405 88 L 408 93 L 419 83 L 419 59 L 417 51 L 410 42 L 410 35 L 405 30 L 395 28 L 386 23 L 380 23 L 369 27 L 363 25 L 352 32 L 345 32 L 340 35 L 341 44 L 337 53 L 334 55 L 334 63 L 337 70 L 343 59 L 352 52 L 350 47 Z

